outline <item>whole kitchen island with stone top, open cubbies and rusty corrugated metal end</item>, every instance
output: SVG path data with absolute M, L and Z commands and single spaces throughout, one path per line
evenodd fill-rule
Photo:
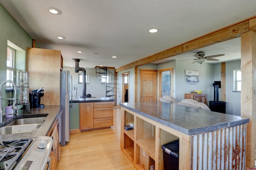
M 161 146 L 178 139 L 180 170 L 245 167 L 247 118 L 164 102 L 120 106 L 121 149 L 136 169 L 144 169 L 143 151 L 163 170 Z M 130 124 L 134 129 L 126 131 Z

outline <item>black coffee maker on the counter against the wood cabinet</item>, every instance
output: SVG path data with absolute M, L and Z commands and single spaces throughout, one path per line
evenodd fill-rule
M 44 96 L 44 90 L 42 88 L 29 92 L 30 108 L 44 107 L 44 104 L 40 104 L 41 97 Z

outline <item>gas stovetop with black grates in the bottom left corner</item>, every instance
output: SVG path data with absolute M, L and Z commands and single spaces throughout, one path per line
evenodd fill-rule
M 0 170 L 10 170 L 31 142 L 32 139 L 0 141 Z

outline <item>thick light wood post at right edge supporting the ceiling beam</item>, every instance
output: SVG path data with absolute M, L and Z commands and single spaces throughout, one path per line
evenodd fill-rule
M 241 116 L 250 118 L 247 127 L 246 167 L 253 168 L 256 149 L 256 32 L 241 35 Z

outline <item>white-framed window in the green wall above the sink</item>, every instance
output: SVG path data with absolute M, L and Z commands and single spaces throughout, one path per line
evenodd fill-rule
M 15 50 L 11 47 L 7 47 L 7 69 L 6 69 L 6 80 L 12 80 L 12 71 L 14 71 L 14 57 Z M 6 83 L 6 86 L 12 86 L 11 83 Z

